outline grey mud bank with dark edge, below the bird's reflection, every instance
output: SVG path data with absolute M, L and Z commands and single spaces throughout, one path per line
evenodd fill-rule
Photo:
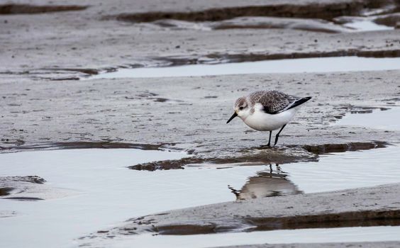
M 127 220 L 106 235 L 193 235 L 216 232 L 399 225 L 400 184 L 356 188 L 329 193 L 311 193 L 258 198 L 172 210 Z M 265 208 L 268 205 L 268 208 Z M 88 238 L 106 238 L 95 233 Z

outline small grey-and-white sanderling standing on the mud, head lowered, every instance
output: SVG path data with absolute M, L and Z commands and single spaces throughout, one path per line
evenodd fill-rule
M 310 96 L 290 96 L 280 91 L 255 91 L 236 100 L 233 108 L 235 113 L 226 123 L 239 116 L 252 129 L 270 131 L 268 147 L 271 144 L 272 131 L 280 128 L 275 136 L 274 145 L 277 145 L 279 134 L 294 117 L 299 106 L 310 99 Z

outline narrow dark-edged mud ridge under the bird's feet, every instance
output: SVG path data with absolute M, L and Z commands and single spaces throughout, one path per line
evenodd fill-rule
M 186 157 L 179 160 L 164 160 L 135 164 L 129 169 L 155 171 L 158 169 L 184 169 L 188 164 L 288 164 L 300 161 L 318 161 L 319 154 L 330 152 L 348 152 L 357 150 L 370 150 L 382 148 L 389 145 L 387 142 L 350 142 L 345 144 L 325 144 L 325 145 L 293 145 L 282 148 L 265 149 L 255 147 L 253 150 L 244 150 L 240 157 L 223 158 L 199 158 Z

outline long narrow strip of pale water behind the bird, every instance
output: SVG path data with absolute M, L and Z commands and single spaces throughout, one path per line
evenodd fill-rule
M 88 79 L 140 77 L 199 77 L 227 74 L 362 72 L 400 69 L 400 58 L 320 57 L 291 60 L 264 60 L 226 64 L 191 64 L 179 67 L 118 69 Z

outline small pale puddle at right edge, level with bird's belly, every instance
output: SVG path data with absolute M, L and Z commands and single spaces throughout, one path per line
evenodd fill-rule
M 335 125 L 357 125 L 365 128 L 400 130 L 400 108 L 375 109 L 372 113 L 349 113 Z

